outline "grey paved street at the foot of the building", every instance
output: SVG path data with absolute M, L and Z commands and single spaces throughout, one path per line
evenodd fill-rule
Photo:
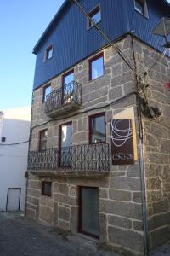
M 95 241 L 35 224 L 14 212 L 0 213 L 0 256 L 122 256 L 96 247 Z M 170 245 L 150 256 L 170 256 Z

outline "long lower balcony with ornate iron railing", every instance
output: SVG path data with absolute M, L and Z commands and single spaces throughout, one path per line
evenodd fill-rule
M 39 176 L 104 176 L 110 170 L 109 144 L 30 151 L 28 172 Z

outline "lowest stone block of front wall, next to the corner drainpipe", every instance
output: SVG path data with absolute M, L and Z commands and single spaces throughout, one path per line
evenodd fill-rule
M 108 227 L 109 240 L 126 249 L 131 249 L 138 253 L 144 252 L 144 236 L 133 230 L 122 230 L 116 227 Z

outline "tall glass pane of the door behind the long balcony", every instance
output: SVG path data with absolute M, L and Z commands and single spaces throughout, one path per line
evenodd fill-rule
M 72 124 L 61 126 L 60 166 L 71 166 Z

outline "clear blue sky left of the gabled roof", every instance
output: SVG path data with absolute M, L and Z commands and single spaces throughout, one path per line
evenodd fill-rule
M 36 61 L 31 51 L 63 2 L 0 1 L 0 111 L 31 105 Z

